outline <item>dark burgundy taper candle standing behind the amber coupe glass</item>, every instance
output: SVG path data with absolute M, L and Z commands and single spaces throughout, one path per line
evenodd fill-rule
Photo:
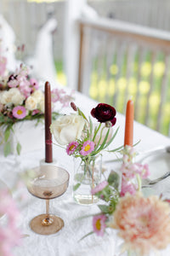
M 50 132 L 50 125 L 52 120 L 51 112 L 51 89 L 48 82 L 45 83 L 45 162 L 53 162 L 52 151 L 52 134 Z

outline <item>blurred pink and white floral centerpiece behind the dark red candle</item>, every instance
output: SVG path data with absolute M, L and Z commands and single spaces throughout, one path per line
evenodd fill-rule
M 30 69 L 21 64 L 14 73 L 8 73 L 6 64 L 6 58 L 0 55 L 0 127 L 3 127 L 0 137 L 5 156 L 11 153 L 10 133 L 14 132 L 14 124 L 33 119 L 38 123 L 44 118 L 44 93 L 37 80 L 30 77 Z M 52 102 L 59 102 L 62 108 L 71 99 L 65 90 L 52 90 Z M 52 119 L 58 115 L 53 110 Z M 16 149 L 20 154 L 20 143 Z

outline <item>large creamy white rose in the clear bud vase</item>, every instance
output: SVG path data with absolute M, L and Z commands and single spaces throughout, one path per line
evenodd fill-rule
M 57 143 L 66 145 L 81 137 L 85 123 L 80 115 L 64 115 L 52 123 L 50 130 Z

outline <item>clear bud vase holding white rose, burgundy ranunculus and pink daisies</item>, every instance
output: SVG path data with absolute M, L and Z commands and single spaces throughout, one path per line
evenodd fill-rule
M 91 115 L 98 120 L 97 125 L 94 125 L 90 117 L 87 119 L 73 102 L 71 102 L 71 107 L 76 113 L 55 120 L 50 129 L 56 142 L 61 146 L 66 146 L 66 153 L 71 155 L 74 160 L 78 160 L 76 182 L 73 187 L 73 190 L 76 191 L 81 189 L 83 184 L 90 184 L 90 187 L 93 188 L 99 183 L 100 174 L 95 165 L 96 160 L 102 151 L 107 150 L 113 142 L 118 128 L 112 134 L 112 126 L 116 124 L 116 109 L 108 104 L 99 103 L 96 108 L 92 109 Z M 118 148 L 114 150 L 116 151 Z M 83 195 L 78 196 L 83 197 Z M 94 200 L 92 195 L 84 195 L 84 197 L 86 197 L 86 201 Z

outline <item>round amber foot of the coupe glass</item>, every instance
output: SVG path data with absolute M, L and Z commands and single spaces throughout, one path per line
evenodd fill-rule
M 55 215 L 47 214 L 38 215 L 35 218 L 32 218 L 30 227 L 31 230 L 40 235 L 51 235 L 57 233 L 64 227 L 64 221 L 62 218 L 59 218 Z

